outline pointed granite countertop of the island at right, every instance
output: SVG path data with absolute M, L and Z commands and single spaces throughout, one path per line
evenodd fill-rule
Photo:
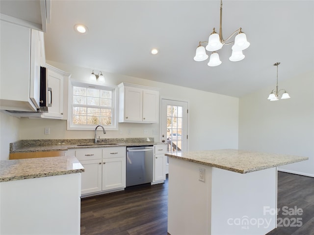
M 174 152 L 165 155 L 188 162 L 209 165 L 242 174 L 309 159 L 307 157 L 236 149 L 220 149 L 185 153 Z

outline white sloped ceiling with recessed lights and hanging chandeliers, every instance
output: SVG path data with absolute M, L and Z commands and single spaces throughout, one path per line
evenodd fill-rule
M 46 59 L 91 71 L 241 97 L 275 86 L 276 62 L 279 86 L 314 67 L 313 0 L 223 0 L 224 39 L 242 27 L 251 45 L 239 62 L 229 61 L 232 45 L 224 45 L 217 67 L 193 57 L 219 29 L 219 0 L 52 0 L 51 7 Z M 79 35 L 75 24 L 88 32 Z

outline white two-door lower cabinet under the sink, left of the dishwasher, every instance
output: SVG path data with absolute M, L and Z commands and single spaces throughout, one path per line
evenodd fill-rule
M 77 149 L 75 155 L 85 168 L 82 195 L 126 187 L 126 147 Z

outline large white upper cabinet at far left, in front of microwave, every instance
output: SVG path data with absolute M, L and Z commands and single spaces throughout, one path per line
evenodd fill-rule
M 39 109 L 40 66 L 43 63 L 43 33 L 0 21 L 1 109 Z

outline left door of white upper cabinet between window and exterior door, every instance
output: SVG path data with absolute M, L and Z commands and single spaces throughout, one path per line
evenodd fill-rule
M 125 120 L 142 121 L 143 90 L 133 87 L 125 89 Z

